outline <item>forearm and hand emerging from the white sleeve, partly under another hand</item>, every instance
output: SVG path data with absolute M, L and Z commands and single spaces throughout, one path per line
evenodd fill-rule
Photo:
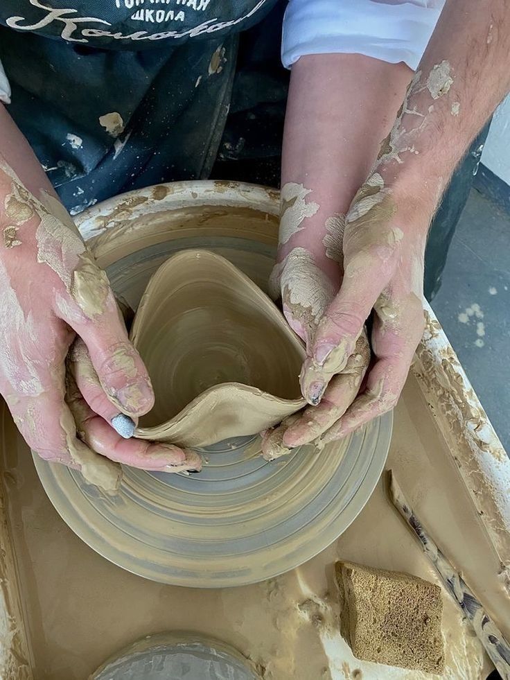
M 301 389 L 310 406 L 265 434 L 267 458 L 333 427 L 362 386 L 370 360 L 362 329 L 370 309 L 365 317 L 359 308 L 355 317 L 342 318 L 349 338 L 340 337 L 342 329 L 335 326 L 345 285 L 344 247 L 355 248 L 353 239 L 347 243 L 355 233 L 350 223 L 344 238 L 344 216 L 376 161 L 411 76 L 405 64 L 349 54 L 308 55 L 292 67 L 272 295 L 282 298 L 285 317 L 306 342 Z M 360 290 L 364 282 L 358 284 Z M 327 360 L 319 341 L 336 348 Z

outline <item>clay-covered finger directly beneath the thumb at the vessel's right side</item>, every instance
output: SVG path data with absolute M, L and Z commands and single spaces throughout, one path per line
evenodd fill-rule
M 355 354 L 347 361 L 342 374 L 334 376 L 318 406 L 308 406 L 299 420 L 283 435 L 285 446 L 303 446 L 322 436 L 351 406 L 360 390 L 370 360 L 367 336 L 363 333 Z

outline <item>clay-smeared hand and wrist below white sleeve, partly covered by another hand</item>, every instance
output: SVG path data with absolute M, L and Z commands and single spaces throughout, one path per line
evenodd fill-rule
M 361 326 L 355 347 L 340 369 L 312 372 L 315 335 L 340 288 L 343 274 L 344 216 L 322 218 L 317 229 L 317 203 L 302 184 L 288 183 L 281 191 L 279 262 L 270 278 L 270 293 L 281 297 L 283 314 L 304 341 L 310 358 L 301 369 L 301 392 L 310 404 L 263 436 L 263 455 L 272 460 L 289 448 L 313 442 L 326 433 L 351 405 L 369 365 L 367 334 Z M 313 218 L 310 228 L 306 228 Z M 311 221 L 311 220 L 310 220 Z

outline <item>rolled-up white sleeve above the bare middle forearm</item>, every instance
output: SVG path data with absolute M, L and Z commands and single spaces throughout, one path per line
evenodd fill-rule
M 357 53 L 416 70 L 445 0 L 289 0 L 281 60 Z

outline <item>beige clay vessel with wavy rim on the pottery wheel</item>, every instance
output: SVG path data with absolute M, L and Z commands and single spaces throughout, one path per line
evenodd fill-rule
M 265 293 L 220 255 L 186 250 L 150 279 L 131 339 L 155 406 L 135 435 L 208 446 L 270 428 L 305 406 L 301 340 Z

